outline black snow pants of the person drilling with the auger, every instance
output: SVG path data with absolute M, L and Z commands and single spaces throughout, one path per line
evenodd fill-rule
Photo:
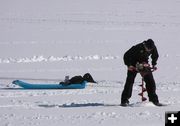
M 124 85 L 124 90 L 121 95 L 121 103 L 128 102 L 128 99 L 131 97 L 133 84 L 134 84 L 136 75 L 137 75 L 137 72 L 128 70 L 126 83 Z M 156 85 L 155 85 L 152 72 L 149 72 L 148 74 L 144 76 L 144 81 L 146 83 L 146 90 L 148 93 L 149 101 L 153 103 L 158 103 L 159 100 L 156 94 Z

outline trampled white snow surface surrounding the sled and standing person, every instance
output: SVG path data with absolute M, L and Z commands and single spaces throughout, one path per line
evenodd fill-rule
M 0 0 L 0 126 L 164 126 L 180 110 L 180 0 Z M 164 107 L 140 103 L 138 75 L 121 107 L 123 54 L 152 38 Z M 24 90 L 15 79 L 58 83 L 91 73 L 82 90 Z

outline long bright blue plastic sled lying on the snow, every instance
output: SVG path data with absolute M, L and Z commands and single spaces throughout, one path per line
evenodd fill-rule
M 14 80 L 12 82 L 15 85 L 18 85 L 24 89 L 84 89 L 86 87 L 87 82 L 84 81 L 80 84 L 69 84 L 69 85 L 62 85 L 62 84 L 31 84 L 27 82 L 23 82 L 20 80 Z

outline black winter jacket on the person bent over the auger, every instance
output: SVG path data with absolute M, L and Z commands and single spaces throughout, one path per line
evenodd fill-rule
M 151 50 L 151 52 L 147 52 L 144 48 L 143 43 L 137 44 L 131 47 L 125 54 L 124 54 L 124 63 L 127 66 L 136 66 L 139 63 L 148 63 L 149 56 L 152 59 L 152 65 L 157 64 L 157 59 L 159 57 L 158 51 L 156 46 Z

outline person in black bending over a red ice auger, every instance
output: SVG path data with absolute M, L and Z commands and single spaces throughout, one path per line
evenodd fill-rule
M 132 95 L 132 87 L 137 73 L 137 64 L 148 64 L 149 57 L 152 59 L 152 67 L 156 69 L 157 60 L 159 57 L 157 48 L 152 39 L 143 41 L 133 47 L 131 47 L 124 54 L 124 63 L 128 67 L 126 83 L 121 95 L 121 105 L 127 106 L 129 104 L 129 98 Z M 156 85 L 151 71 L 144 76 L 146 83 L 146 89 L 149 97 L 149 101 L 159 106 L 158 96 L 156 94 Z

